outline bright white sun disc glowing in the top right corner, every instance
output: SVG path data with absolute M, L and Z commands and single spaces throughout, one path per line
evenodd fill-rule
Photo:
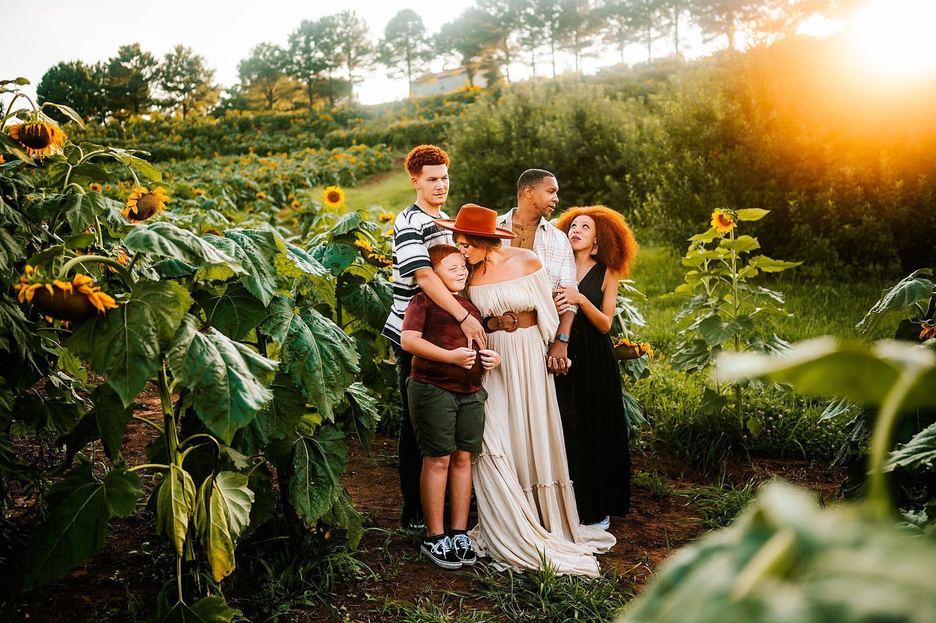
M 857 7 L 850 44 L 874 73 L 909 77 L 936 71 L 934 0 L 870 0 Z

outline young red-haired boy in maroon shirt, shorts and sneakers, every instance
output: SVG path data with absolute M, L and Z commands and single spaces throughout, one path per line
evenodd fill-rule
M 471 301 L 455 293 L 464 289 L 468 268 L 459 250 L 439 244 L 429 250 L 432 269 L 470 314 L 481 322 Z M 501 363 L 491 350 L 466 345 L 459 319 L 424 292 L 409 302 L 403 317 L 401 344 L 413 356 L 407 381 L 410 414 L 422 454 L 419 491 L 426 520 L 422 553 L 443 569 L 459 569 L 477 561 L 466 530 L 471 503 L 471 457 L 481 452 L 484 401 L 481 386 L 487 369 Z M 472 344 L 475 342 L 473 341 Z M 443 526 L 446 485 L 451 512 L 451 536 Z

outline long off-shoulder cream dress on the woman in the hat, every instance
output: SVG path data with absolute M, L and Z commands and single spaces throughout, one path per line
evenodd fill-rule
M 556 389 L 545 362 L 559 326 L 546 270 L 471 286 L 467 294 L 485 316 L 538 315 L 536 326 L 488 335 L 501 365 L 484 377 L 484 441 L 473 468 L 475 549 L 501 570 L 538 569 L 542 555 L 558 573 L 597 575 L 594 554 L 606 552 L 615 539 L 578 524 Z

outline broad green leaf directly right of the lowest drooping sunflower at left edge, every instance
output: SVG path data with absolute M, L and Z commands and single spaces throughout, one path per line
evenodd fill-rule
M 160 354 L 191 304 L 188 291 L 178 283 L 137 283 L 123 305 L 86 321 L 66 346 L 107 374 L 128 407 L 159 369 Z

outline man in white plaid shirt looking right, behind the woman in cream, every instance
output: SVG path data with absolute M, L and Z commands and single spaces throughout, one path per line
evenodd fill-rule
M 539 256 L 553 290 L 578 289 L 572 244 L 562 231 L 546 220 L 558 203 L 559 182 L 556 176 L 542 168 L 527 169 L 517 181 L 517 208 L 499 217 L 497 226 L 517 235 L 510 241 L 511 246 L 530 249 Z M 549 345 L 546 360 L 551 372 L 565 374 L 572 365 L 568 358 L 568 342 L 578 307 L 563 303 L 556 306 L 556 311 L 559 312 L 559 328 L 556 340 Z

